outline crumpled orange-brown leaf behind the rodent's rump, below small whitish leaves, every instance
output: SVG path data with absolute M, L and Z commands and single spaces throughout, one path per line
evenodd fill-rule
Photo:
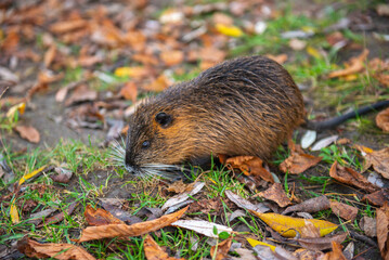
M 280 169 L 283 172 L 299 174 L 312 166 L 317 165 L 321 160 L 322 157 L 291 152 L 290 156 L 281 162 Z

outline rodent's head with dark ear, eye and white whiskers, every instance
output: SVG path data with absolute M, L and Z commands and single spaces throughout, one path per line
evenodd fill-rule
M 134 174 L 158 174 L 157 170 L 178 169 L 189 156 L 186 136 L 191 123 L 173 107 L 159 106 L 153 100 L 140 105 L 130 117 L 125 165 Z M 185 135 L 185 136 L 184 136 Z

